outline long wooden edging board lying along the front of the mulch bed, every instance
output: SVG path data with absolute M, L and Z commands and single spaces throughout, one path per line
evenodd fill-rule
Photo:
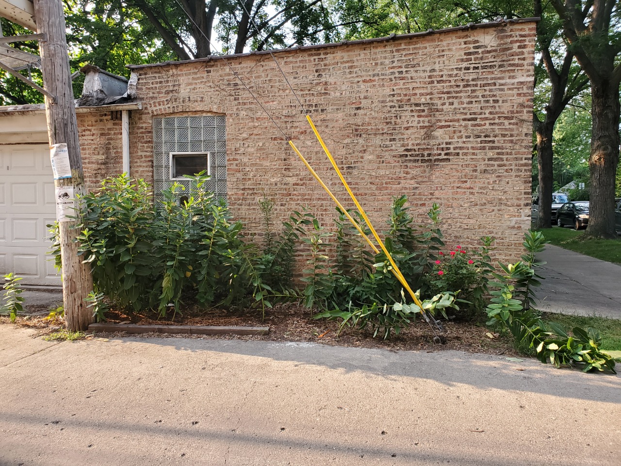
M 204 325 L 138 325 L 138 324 L 91 324 L 89 331 L 126 333 L 169 333 L 191 335 L 267 335 L 270 327 L 224 327 Z

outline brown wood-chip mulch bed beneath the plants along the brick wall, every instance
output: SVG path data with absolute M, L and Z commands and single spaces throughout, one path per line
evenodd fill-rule
M 43 336 L 62 328 L 61 321 L 48 321 L 47 313 L 40 309 L 32 316 L 19 317 L 16 324 L 22 327 L 36 329 L 35 336 Z M 460 318 L 443 321 L 445 327 L 446 344 L 434 344 L 433 334 L 427 324 L 418 319 L 417 322 L 405 329 L 399 336 L 392 336 L 389 340 L 373 338 L 369 329 L 344 327 L 338 334 L 340 321 L 313 319 L 309 309 L 299 304 L 277 304 L 273 309 L 266 310 L 265 320 L 261 319 L 260 311 L 246 309 L 209 309 L 194 307 L 184 309 L 183 315 L 170 319 L 157 319 L 155 314 L 125 314 L 111 310 L 107 314 L 109 322 L 124 322 L 132 324 L 157 325 L 199 325 L 199 326 L 269 326 L 270 334 L 266 336 L 184 336 L 170 334 L 147 333 L 132 335 L 133 337 L 190 337 L 202 339 L 239 339 L 239 340 L 271 340 L 289 342 L 315 342 L 332 346 L 383 348 L 389 350 L 462 350 L 472 353 L 486 353 L 496 355 L 517 355 L 507 337 L 493 334 L 487 336 L 489 329 L 483 322 L 466 321 Z M 9 323 L 8 318 L 0 318 L 0 324 Z M 88 332 L 87 332 L 88 333 Z M 92 332 L 91 332 L 92 333 Z M 126 336 L 124 332 L 104 334 L 97 332 L 97 337 Z

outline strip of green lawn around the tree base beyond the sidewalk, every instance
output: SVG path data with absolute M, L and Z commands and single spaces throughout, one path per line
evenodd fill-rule
M 566 227 L 552 227 L 540 231 L 543 232 L 545 239 L 550 241 L 550 244 L 607 262 L 621 264 L 621 238 L 584 241 L 582 240 L 584 231 L 575 231 Z

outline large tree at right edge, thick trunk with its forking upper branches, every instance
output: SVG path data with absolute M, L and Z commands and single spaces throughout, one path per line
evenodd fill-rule
M 591 209 L 586 234 L 615 238 L 615 173 L 619 163 L 621 17 L 616 0 L 552 0 L 563 33 L 591 81 Z

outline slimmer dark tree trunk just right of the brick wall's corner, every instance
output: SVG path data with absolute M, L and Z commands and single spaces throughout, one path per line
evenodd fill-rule
M 537 135 L 537 164 L 539 166 L 539 212 L 535 228 L 550 228 L 552 225 L 552 134 L 555 122 L 537 121 L 535 119 L 535 134 Z

